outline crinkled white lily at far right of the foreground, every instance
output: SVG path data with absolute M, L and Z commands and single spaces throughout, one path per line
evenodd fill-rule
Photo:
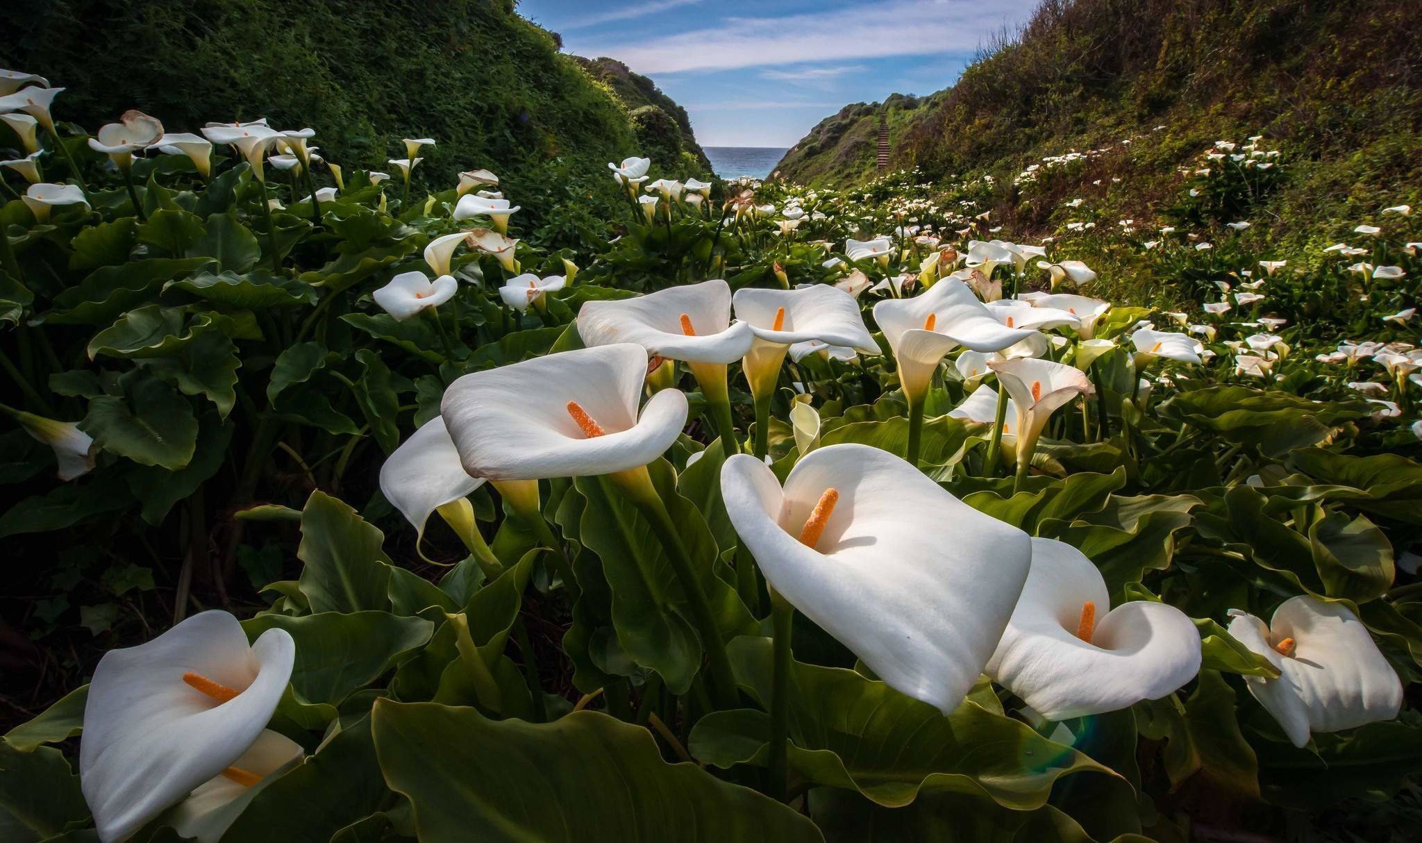
M 1398 716 L 1402 682 L 1352 611 L 1308 594 L 1290 597 L 1264 624 L 1230 610 L 1230 635 L 1283 674 L 1244 677 L 1294 746 L 1310 732 L 1337 732 Z

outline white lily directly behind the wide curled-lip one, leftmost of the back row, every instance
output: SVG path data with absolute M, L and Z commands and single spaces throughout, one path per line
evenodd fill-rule
M 620 301 L 586 301 L 577 313 L 586 345 L 634 343 L 693 364 L 731 364 L 751 350 L 751 324 L 731 324 L 731 286 L 715 279 Z

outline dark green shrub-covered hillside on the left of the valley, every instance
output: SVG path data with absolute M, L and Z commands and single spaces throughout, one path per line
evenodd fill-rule
M 314 144 L 347 169 L 390 169 L 388 158 L 405 155 L 401 138 L 431 136 L 438 145 L 424 148 L 417 181 L 448 185 L 462 169 L 489 168 L 532 215 L 526 223 L 556 225 L 545 219 L 552 208 L 574 193 L 610 193 L 606 162 L 640 145 L 629 107 L 513 6 L 0 4 L 0 67 L 67 87 L 60 119 L 90 131 L 128 108 L 158 117 L 169 131 L 267 117 L 279 128 L 316 128 Z M 651 90 L 663 108 L 681 112 Z M 693 175 L 677 169 L 684 162 L 658 163 Z M 579 182 L 590 188 L 570 190 Z

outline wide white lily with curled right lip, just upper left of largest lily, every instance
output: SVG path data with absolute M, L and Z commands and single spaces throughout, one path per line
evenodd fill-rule
M 687 421 L 680 390 L 658 391 L 638 415 L 646 377 L 641 345 L 562 351 L 464 375 L 441 415 L 471 476 L 609 475 L 657 459 Z

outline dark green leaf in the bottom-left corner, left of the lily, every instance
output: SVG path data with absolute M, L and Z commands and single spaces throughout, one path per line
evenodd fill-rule
M 21 752 L 0 741 L 0 840 L 37 843 L 88 816 L 80 778 L 64 753 L 48 746 Z

